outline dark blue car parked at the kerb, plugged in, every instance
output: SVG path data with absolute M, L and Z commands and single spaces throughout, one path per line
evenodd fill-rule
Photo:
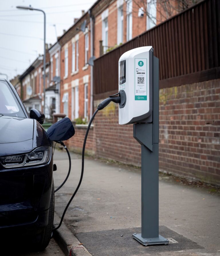
M 54 218 L 52 143 L 43 121 L 38 110 L 29 116 L 0 79 L 0 231 L 19 230 L 39 250 L 50 241 Z

